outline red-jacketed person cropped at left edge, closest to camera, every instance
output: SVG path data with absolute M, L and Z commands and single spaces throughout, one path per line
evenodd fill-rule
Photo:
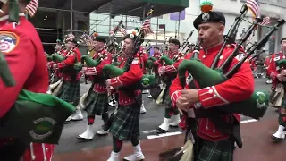
M 48 88 L 44 49 L 37 30 L 25 18 L 25 12 L 30 16 L 36 13 L 38 0 L 19 0 L 18 2 L 19 6 L 16 3 L 9 4 L 13 3 L 12 0 L 0 1 L 0 50 L 5 55 L 13 78 L 17 82 L 13 88 L 7 88 L 0 80 L 0 120 L 13 106 L 21 89 L 46 93 Z M 17 11 L 14 9 L 18 7 L 20 7 L 19 20 L 15 20 L 9 16 L 9 12 Z M 26 58 L 29 58 L 29 61 Z M 55 148 L 54 145 L 30 143 L 18 138 L 1 139 L 0 142 L 0 160 L 51 160 Z

